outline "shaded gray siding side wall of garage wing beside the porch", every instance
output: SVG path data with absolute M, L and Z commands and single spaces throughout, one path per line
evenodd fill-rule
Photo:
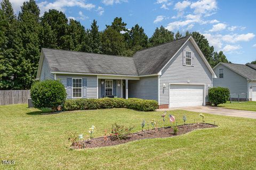
M 128 97 L 141 99 L 158 99 L 158 77 L 141 77 L 140 80 L 128 81 Z

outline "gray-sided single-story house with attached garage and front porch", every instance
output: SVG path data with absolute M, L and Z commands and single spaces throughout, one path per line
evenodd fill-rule
M 205 105 L 215 77 L 191 36 L 133 57 L 43 48 L 37 72 L 38 80 L 60 80 L 67 98 L 152 99 L 159 108 Z

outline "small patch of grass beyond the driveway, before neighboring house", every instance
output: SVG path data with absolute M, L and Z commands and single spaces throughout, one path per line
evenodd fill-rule
M 244 111 L 256 111 L 256 101 L 244 101 L 241 103 L 238 103 L 237 101 L 233 101 L 232 103 L 230 103 L 230 101 L 227 101 L 227 103 L 221 104 L 219 106 Z

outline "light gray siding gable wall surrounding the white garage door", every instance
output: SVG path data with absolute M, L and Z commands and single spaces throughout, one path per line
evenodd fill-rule
M 183 50 L 194 52 L 194 66 L 183 65 Z M 205 84 L 205 101 L 208 101 L 208 89 L 212 87 L 212 73 L 198 54 L 190 40 L 179 50 L 162 70 L 159 76 L 159 104 L 169 104 L 169 83 Z M 163 88 L 163 84 L 166 88 Z

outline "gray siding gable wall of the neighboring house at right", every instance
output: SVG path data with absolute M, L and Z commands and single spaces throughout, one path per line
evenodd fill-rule
M 223 78 L 219 78 L 219 69 L 223 69 Z M 213 87 L 226 87 L 230 94 L 247 93 L 247 79 L 242 75 L 228 69 L 228 67 L 219 64 L 214 68 L 218 78 L 213 79 Z

